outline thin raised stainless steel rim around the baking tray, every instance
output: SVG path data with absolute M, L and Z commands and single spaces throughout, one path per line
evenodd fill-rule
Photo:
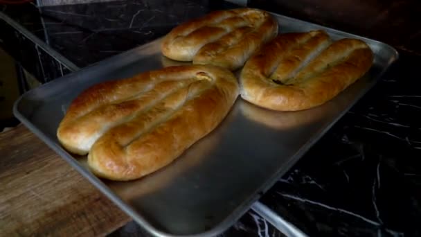
M 299 20 L 299 19 L 294 19 L 294 18 L 291 18 L 291 17 L 285 17 L 285 16 L 282 16 L 282 15 L 274 14 L 274 13 L 272 13 L 272 14 L 274 16 L 278 17 L 278 18 L 281 18 L 281 19 L 287 19 L 289 21 L 297 21 L 297 22 L 300 22 L 301 24 L 307 24 L 307 25 L 312 26 L 314 28 L 329 29 L 331 32 L 334 32 L 334 33 L 337 33 L 337 34 L 350 35 L 350 36 L 353 36 L 353 37 L 357 37 L 357 38 L 366 40 L 366 41 L 371 42 L 371 43 L 373 43 L 373 42 L 377 43 L 384 48 L 388 48 L 389 51 L 393 52 L 392 53 L 393 56 L 391 58 L 389 58 L 389 60 L 390 60 L 389 64 L 395 62 L 395 60 L 397 60 L 397 58 L 399 57 L 399 54 L 397 53 L 397 51 L 393 47 L 389 46 L 388 44 L 384 44 L 384 43 L 378 42 L 376 40 L 370 40 L 366 37 L 359 37 L 357 35 L 344 33 L 341 30 L 334 30 L 334 29 L 331 29 L 331 28 L 328 28 L 328 27 L 325 27 L 325 26 L 319 26 L 317 24 L 308 23 L 306 21 L 302 21 L 302 20 Z M 280 33 L 283 33 L 282 28 L 280 28 Z M 141 52 L 145 49 L 149 49 L 149 47 L 151 45 L 155 44 L 157 41 L 160 41 L 161 39 L 162 39 L 162 37 L 159 38 L 158 40 L 155 40 L 154 42 L 150 42 L 148 44 L 138 46 L 134 49 L 131 49 L 131 50 L 126 51 L 124 53 L 120 53 L 120 54 L 115 55 L 111 58 L 107 58 L 107 59 L 102 60 L 100 62 L 97 62 L 95 64 L 91 64 L 89 67 L 85 67 L 84 69 L 80 69 L 79 71 L 76 71 L 75 73 L 70 73 L 66 76 L 63 76 L 62 78 L 58 78 L 56 80 L 48 82 L 44 85 L 41 85 L 36 90 L 28 91 L 25 94 L 21 95 L 15 101 L 15 104 L 14 104 L 14 107 L 13 107 L 13 112 L 14 112 L 15 116 L 17 116 L 17 119 L 19 119 L 22 123 L 24 123 L 24 125 L 26 125 L 26 127 L 28 127 L 32 132 L 37 134 L 37 136 L 40 139 L 45 141 L 50 148 L 52 148 L 55 152 L 57 152 L 57 154 L 60 155 L 60 157 L 63 157 L 69 164 L 71 164 L 71 166 L 73 168 L 78 170 L 79 173 L 81 173 L 85 178 L 87 178 L 89 180 L 89 182 L 91 182 L 91 184 L 96 186 L 96 188 L 98 188 L 102 193 L 104 193 L 107 196 L 107 198 L 109 198 L 110 200 L 115 202 L 117 204 L 117 206 L 120 207 L 120 209 L 123 209 L 123 211 L 125 211 L 129 216 L 131 216 L 141 226 L 145 227 L 145 229 L 147 229 L 147 231 L 149 231 L 154 236 L 215 236 L 215 235 L 219 234 L 221 231 L 224 231 L 224 229 L 229 228 L 233 224 L 233 222 L 235 222 L 235 220 L 240 218 L 240 216 L 242 216 L 242 214 L 244 214 L 249 209 L 249 207 L 251 207 L 251 204 L 253 204 L 254 201 L 258 200 L 258 198 L 260 198 L 259 193 L 263 192 L 263 191 L 266 191 L 266 189 L 270 188 L 270 186 L 273 185 L 276 182 L 276 180 L 280 177 L 280 175 L 283 175 L 283 173 L 285 173 L 286 170 L 291 168 L 296 163 L 297 160 L 295 158 L 289 159 L 288 163 L 285 166 L 279 168 L 275 173 L 273 173 L 271 175 L 270 179 L 266 180 L 265 184 L 262 184 L 262 186 L 265 187 L 265 188 L 260 188 L 261 190 L 260 189 L 256 190 L 254 192 L 254 195 L 250 195 L 249 198 L 244 199 L 243 202 L 242 202 L 242 205 L 238 205 L 238 207 L 233 209 L 233 211 L 231 211 L 231 213 L 228 216 L 223 218 L 220 222 L 218 222 L 216 225 L 214 225 L 210 229 L 208 229 L 206 231 L 201 231 L 200 233 L 197 233 L 197 234 L 187 234 L 187 235 L 170 234 L 170 233 L 165 232 L 165 231 L 161 230 L 160 228 L 152 225 L 152 223 L 149 222 L 145 217 L 143 217 L 139 213 L 137 213 L 132 207 L 129 206 L 129 204 L 127 204 L 125 201 L 123 201 L 121 198 L 119 198 L 118 195 L 116 195 L 107 185 L 105 185 L 105 183 L 103 183 L 100 179 L 98 179 L 98 177 L 94 176 L 92 173 L 89 172 L 89 170 L 87 170 L 82 165 L 80 165 L 77 161 L 75 161 L 75 159 L 68 152 L 66 152 L 66 150 L 64 150 L 63 148 L 61 148 L 59 146 L 56 146 L 55 145 L 56 141 L 53 141 L 51 138 L 49 138 L 48 135 L 46 135 L 42 130 L 40 130 L 35 125 L 33 125 L 33 123 L 31 123 L 31 121 L 28 118 L 26 118 L 26 116 L 21 114 L 21 112 L 19 111 L 19 105 L 21 104 L 21 100 L 24 100 L 24 98 L 26 98 L 28 96 L 31 96 L 31 94 L 35 94 L 37 91 L 45 91 L 46 88 L 51 87 L 52 85 L 59 85 L 59 84 L 63 83 L 65 80 L 69 80 L 69 78 L 73 78 L 75 75 L 79 76 L 79 75 L 82 75 L 83 73 L 89 73 L 93 70 L 100 69 L 105 64 L 109 64 L 111 62 L 116 62 L 116 61 L 118 62 L 118 59 L 120 59 L 120 58 L 132 58 L 133 61 L 135 61 L 135 59 L 133 58 L 134 57 L 133 55 L 136 55 L 136 52 Z M 386 70 L 383 70 L 381 73 L 377 74 L 376 78 L 375 78 L 375 81 L 377 81 L 378 78 L 382 77 L 383 74 L 385 73 L 385 71 Z M 375 84 L 372 84 L 371 87 L 373 87 L 373 85 L 375 85 Z M 364 93 L 361 94 L 361 96 L 363 96 L 365 94 L 365 92 L 368 91 L 368 89 L 370 89 L 371 87 L 365 88 L 365 91 L 364 91 Z M 238 98 L 238 99 L 240 99 L 240 98 Z M 318 136 L 312 137 L 312 139 L 307 141 L 305 146 L 302 146 L 299 150 L 296 150 L 296 153 L 293 155 L 293 157 L 301 157 L 302 155 L 304 155 L 305 152 L 307 152 L 307 150 L 308 150 L 308 146 L 312 146 L 312 144 L 316 143 L 316 141 L 318 141 L 320 137 L 323 137 L 325 132 L 328 132 L 328 130 L 330 130 L 330 128 L 334 125 L 334 123 L 336 123 L 339 119 L 341 119 L 343 114 L 346 114 L 346 112 L 348 111 L 348 109 L 350 107 L 352 107 L 352 105 L 357 103 L 357 100 L 353 100 L 352 103 L 350 103 L 346 109 L 343 109 L 343 111 L 328 126 L 325 126 L 324 128 L 321 128 L 321 132 L 319 132 Z M 247 208 L 244 208 L 244 207 L 247 207 Z

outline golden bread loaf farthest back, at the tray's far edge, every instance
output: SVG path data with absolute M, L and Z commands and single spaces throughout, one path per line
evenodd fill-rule
M 278 35 L 278 22 L 253 8 L 220 10 L 187 21 L 165 35 L 163 55 L 193 64 L 213 64 L 231 71 Z

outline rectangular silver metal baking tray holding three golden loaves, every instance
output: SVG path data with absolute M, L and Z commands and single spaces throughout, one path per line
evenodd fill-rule
M 335 40 L 365 40 L 375 53 L 373 67 L 325 105 L 301 112 L 271 112 L 239 97 L 211 134 L 169 166 L 132 182 L 98 179 L 89 172 L 86 157 L 66 152 L 55 132 L 71 100 L 87 87 L 178 64 L 163 58 L 161 39 L 28 91 L 16 101 L 15 116 L 151 234 L 215 236 L 248 211 L 398 58 L 382 42 L 274 16 L 280 33 L 323 29 Z

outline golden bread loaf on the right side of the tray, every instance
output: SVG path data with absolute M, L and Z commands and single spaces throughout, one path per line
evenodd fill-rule
M 285 33 L 246 62 L 240 73 L 240 94 L 267 109 L 309 109 L 337 96 L 372 64 L 373 52 L 361 40 L 332 43 L 322 30 Z

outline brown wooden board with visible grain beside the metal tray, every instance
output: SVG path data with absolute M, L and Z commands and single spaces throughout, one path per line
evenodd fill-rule
M 24 125 L 0 133 L 0 236 L 104 236 L 129 221 Z

